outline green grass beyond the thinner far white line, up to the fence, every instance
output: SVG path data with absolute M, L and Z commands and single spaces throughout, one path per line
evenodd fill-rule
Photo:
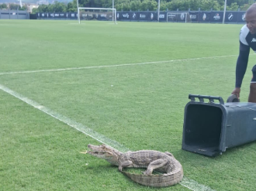
M 240 28 L 147 22 L 68 26 L 67 22 L 1 20 L 5 24 L 0 36 L 1 72 L 232 55 L 237 53 L 239 35 L 234 31 Z

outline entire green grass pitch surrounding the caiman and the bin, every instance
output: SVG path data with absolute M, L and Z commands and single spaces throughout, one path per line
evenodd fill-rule
M 188 95 L 226 101 L 234 89 L 241 26 L 0 20 L 0 84 L 124 148 L 173 153 L 199 185 L 253 191 L 254 142 L 215 158 L 181 149 Z M 158 190 L 80 154 L 100 142 L 4 90 L 0 105 L 0 190 Z

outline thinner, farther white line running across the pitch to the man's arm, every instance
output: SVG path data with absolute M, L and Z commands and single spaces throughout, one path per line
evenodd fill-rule
M 210 57 L 180 59 L 180 60 L 163 60 L 163 61 L 146 62 L 146 63 L 124 63 L 124 64 L 107 65 L 107 66 L 95 66 L 95 67 L 70 67 L 70 68 L 49 69 L 49 70 L 16 71 L 16 72 L 0 73 L 0 75 L 18 74 L 18 73 L 58 72 L 58 71 L 65 71 L 65 70 L 85 70 L 85 69 L 106 68 L 106 67 L 127 67 L 127 66 L 136 66 L 136 65 L 144 65 L 144 64 L 154 64 L 154 63 L 155 64 L 157 64 L 157 63 L 174 63 L 174 62 L 182 62 L 182 61 L 189 61 L 189 60 L 218 59 L 218 58 L 224 58 L 224 57 L 230 57 L 230 56 L 237 56 L 237 55 L 210 56 Z

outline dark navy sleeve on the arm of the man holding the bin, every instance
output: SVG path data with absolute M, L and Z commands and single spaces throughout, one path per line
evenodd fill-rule
M 236 68 L 236 87 L 241 87 L 244 79 L 244 73 L 247 69 L 247 63 L 250 53 L 250 46 L 246 46 L 240 42 L 239 56 L 237 58 Z

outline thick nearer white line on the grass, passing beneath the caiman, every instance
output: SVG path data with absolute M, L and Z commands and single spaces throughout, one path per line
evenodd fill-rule
M 28 97 L 22 96 L 22 94 L 16 93 L 14 90 L 9 89 L 8 87 L 3 86 L 2 84 L 0 84 L 0 90 L 3 90 L 6 93 L 11 94 L 12 96 L 18 98 L 19 100 L 26 102 L 26 104 L 29 104 L 35 107 L 36 109 L 43 111 L 46 114 L 49 114 L 51 117 L 64 122 L 70 127 L 77 129 L 78 131 L 81 131 L 85 135 L 88 135 L 91 138 L 94 138 L 98 142 L 101 142 L 106 145 L 110 145 L 121 152 L 129 151 L 129 148 L 124 147 L 119 142 L 116 142 L 110 138 L 107 138 L 106 136 L 99 134 L 98 132 L 92 130 L 91 128 L 86 127 L 83 124 L 73 121 L 70 118 L 65 117 L 64 115 L 58 114 L 55 111 L 50 110 L 50 108 L 44 107 L 42 104 L 38 104 L 36 101 L 30 100 Z M 186 177 L 182 179 L 180 184 L 182 186 L 185 186 L 188 189 L 192 189 L 193 191 L 214 191 L 213 189 L 210 189 L 209 186 L 204 186 L 202 184 L 199 184 L 199 182 L 195 182 L 195 180 L 188 179 Z

